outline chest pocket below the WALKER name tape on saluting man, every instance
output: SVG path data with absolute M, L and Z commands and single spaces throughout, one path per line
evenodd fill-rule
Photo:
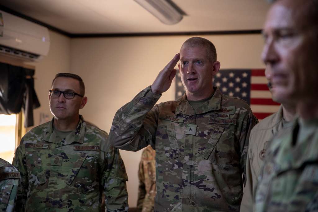
M 175 123 L 162 124 L 158 128 L 157 135 L 160 134 L 160 138 L 156 139 L 156 163 L 160 164 L 172 158 L 180 157 Z

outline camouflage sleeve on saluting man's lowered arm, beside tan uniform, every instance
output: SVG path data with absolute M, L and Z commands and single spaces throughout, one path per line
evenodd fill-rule
M 243 182 L 244 186 L 246 183 L 246 159 L 247 159 L 247 150 L 249 144 L 249 138 L 252 128 L 258 123 L 258 119 L 254 116 L 250 110 L 249 114 L 243 120 L 243 125 L 239 137 L 240 145 L 240 167 L 243 171 Z

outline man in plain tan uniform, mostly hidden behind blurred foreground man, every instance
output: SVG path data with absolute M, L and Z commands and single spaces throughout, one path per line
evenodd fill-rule
M 276 93 L 272 92 L 273 85 L 271 79 L 273 72 L 270 67 L 266 68 L 265 76 L 268 80 L 267 86 L 272 93 L 273 101 L 282 104 L 278 112 L 263 119 L 251 131 L 246 161 L 246 184 L 241 203 L 241 212 L 253 212 L 253 196 L 255 195 L 259 172 L 264 164 L 266 150 L 277 132 L 283 128 L 292 127 L 292 120 L 296 113 L 293 103 L 284 102 L 283 99 L 275 96 Z

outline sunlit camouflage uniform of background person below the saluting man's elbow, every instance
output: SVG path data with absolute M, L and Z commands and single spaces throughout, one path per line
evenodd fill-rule
M 142 151 L 139 164 L 139 191 L 137 208 L 142 212 L 154 211 L 156 196 L 156 151 L 150 146 Z

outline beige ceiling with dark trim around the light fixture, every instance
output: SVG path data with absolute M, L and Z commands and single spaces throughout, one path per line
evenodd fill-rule
M 266 0 L 172 0 L 186 15 L 162 24 L 133 0 L 0 0 L 69 34 L 241 31 L 262 28 Z

